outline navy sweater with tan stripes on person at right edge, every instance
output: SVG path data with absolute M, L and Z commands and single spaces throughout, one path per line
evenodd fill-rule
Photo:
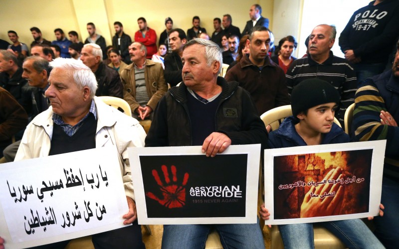
M 399 127 L 381 124 L 380 112 L 388 111 L 399 122 L 399 78 L 392 70 L 364 81 L 356 92 L 352 127 L 356 141 L 387 139 L 386 157 L 399 159 Z M 385 164 L 384 174 L 399 179 L 399 167 Z

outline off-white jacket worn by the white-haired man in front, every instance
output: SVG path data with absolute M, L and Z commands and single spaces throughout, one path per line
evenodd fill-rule
M 117 146 L 126 196 L 134 198 L 128 147 L 144 147 L 146 132 L 140 123 L 94 97 L 97 109 L 96 147 Z M 48 156 L 53 134 L 52 108 L 37 115 L 26 127 L 15 161 Z

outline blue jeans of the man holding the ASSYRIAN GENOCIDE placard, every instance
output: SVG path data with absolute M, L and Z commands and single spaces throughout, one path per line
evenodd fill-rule
M 164 225 L 162 249 L 203 249 L 212 228 L 223 248 L 265 248 L 257 219 L 257 224 Z

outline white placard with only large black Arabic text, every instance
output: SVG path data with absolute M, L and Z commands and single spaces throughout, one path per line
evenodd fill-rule
M 0 236 L 7 249 L 122 228 L 128 212 L 114 147 L 2 164 Z

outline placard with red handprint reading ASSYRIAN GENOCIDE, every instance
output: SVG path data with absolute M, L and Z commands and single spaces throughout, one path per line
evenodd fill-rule
M 260 144 L 128 148 L 139 224 L 256 223 Z

